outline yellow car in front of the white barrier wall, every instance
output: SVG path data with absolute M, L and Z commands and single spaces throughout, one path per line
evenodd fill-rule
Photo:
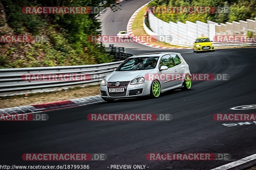
M 194 43 L 194 52 L 199 52 L 199 51 L 214 51 L 214 44 L 208 37 L 199 37 L 196 39 Z

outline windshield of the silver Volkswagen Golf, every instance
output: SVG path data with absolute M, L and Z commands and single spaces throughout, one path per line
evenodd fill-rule
M 148 70 L 156 67 L 159 57 L 136 57 L 126 59 L 116 71 Z

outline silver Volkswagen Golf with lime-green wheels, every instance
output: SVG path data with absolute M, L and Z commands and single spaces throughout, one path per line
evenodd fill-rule
M 147 53 L 124 60 L 101 81 L 103 100 L 159 97 L 167 90 L 191 88 L 189 66 L 180 53 Z

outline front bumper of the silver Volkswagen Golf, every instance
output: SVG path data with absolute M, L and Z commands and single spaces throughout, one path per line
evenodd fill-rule
M 124 87 L 125 92 L 108 92 L 110 89 L 107 86 L 100 86 L 100 94 L 104 99 L 122 99 L 122 98 L 136 98 L 140 96 L 147 96 L 150 94 L 150 86 L 151 82 L 145 82 L 142 84 L 134 84 L 130 83 Z M 117 87 L 120 88 L 120 87 Z M 113 89 L 113 88 L 111 88 Z M 136 94 L 137 91 L 140 91 L 140 94 Z

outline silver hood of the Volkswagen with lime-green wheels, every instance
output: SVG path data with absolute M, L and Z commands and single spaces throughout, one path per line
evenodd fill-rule
M 113 81 L 132 81 L 138 77 L 144 77 L 145 74 L 154 72 L 155 69 L 137 70 L 137 71 L 114 71 L 108 74 L 104 79 L 108 82 Z

